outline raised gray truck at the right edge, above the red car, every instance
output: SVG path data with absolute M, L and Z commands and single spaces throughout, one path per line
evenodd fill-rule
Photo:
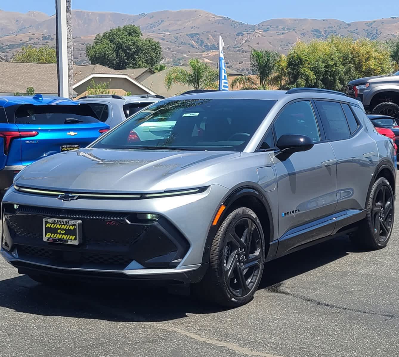
M 392 76 L 352 80 L 346 87 L 346 94 L 361 101 L 369 114 L 399 119 L 399 72 Z

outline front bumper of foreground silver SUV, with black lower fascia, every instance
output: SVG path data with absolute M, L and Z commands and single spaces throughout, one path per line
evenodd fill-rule
M 225 193 L 224 187 L 213 185 L 180 197 L 63 202 L 11 188 L 2 203 L 1 254 L 22 273 L 197 282 L 205 273 L 207 232 Z M 126 224 L 126 215 L 136 213 L 161 218 L 153 223 L 128 218 L 132 223 Z M 44 242 L 45 217 L 81 219 L 83 244 Z

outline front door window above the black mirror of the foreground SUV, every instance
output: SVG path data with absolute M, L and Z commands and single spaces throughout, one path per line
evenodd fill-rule
M 274 129 L 277 140 L 284 134 L 298 134 L 320 141 L 316 117 L 310 101 L 297 101 L 288 104 L 277 118 Z

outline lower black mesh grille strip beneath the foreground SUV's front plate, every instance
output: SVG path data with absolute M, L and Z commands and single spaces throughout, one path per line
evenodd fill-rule
M 119 265 L 126 267 L 132 259 L 126 256 L 115 254 L 93 254 L 93 253 L 75 253 L 63 252 L 60 250 L 53 250 L 47 248 L 38 248 L 32 246 L 17 245 L 18 256 L 22 259 L 26 258 L 43 258 L 54 259 L 58 263 L 65 262 L 79 262 L 81 264 L 105 264 L 105 265 Z

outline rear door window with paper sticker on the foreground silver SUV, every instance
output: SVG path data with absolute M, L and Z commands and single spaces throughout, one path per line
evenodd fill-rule
M 327 140 L 343 140 L 351 136 L 348 122 L 341 103 L 335 101 L 316 101 Z

